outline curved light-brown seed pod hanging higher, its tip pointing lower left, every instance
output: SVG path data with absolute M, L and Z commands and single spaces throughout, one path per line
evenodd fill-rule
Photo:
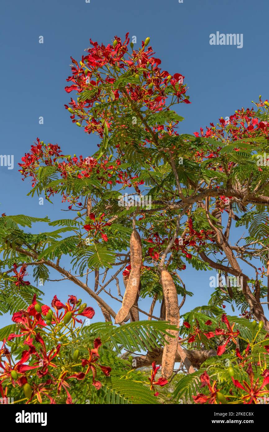
M 133 230 L 130 238 L 130 264 L 131 272 L 123 296 L 122 307 L 115 318 L 115 324 L 120 324 L 125 320 L 131 307 L 137 300 L 140 286 L 140 271 L 142 266 L 142 244 L 140 235 L 136 229 Z

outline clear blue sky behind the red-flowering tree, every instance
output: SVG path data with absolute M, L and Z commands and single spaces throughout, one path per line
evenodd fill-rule
M 66 154 L 86 157 L 96 150 L 97 137 L 72 124 L 63 106 L 70 100 L 64 90 L 70 56 L 80 60 L 89 38 L 108 44 L 114 35 L 124 37 L 130 32 L 139 44 L 150 36 L 163 69 L 182 73 L 189 86 L 192 104 L 181 104 L 177 110 L 185 117 L 179 133 L 193 133 L 242 106 L 250 108 L 260 94 L 269 97 L 267 0 L 13 0 L 3 2 L 1 9 L 0 152 L 14 155 L 14 169 L 0 167 L 0 213 L 66 216 L 57 200 L 40 206 L 38 197 L 26 197 L 31 184 L 22 182 L 16 164 L 36 137 L 58 143 Z M 210 34 L 216 32 L 243 34 L 243 48 L 210 45 Z M 43 44 L 38 42 L 41 35 Z M 209 276 L 185 271 L 186 287 L 195 295 L 186 301 L 183 312 L 208 302 Z M 76 294 L 95 307 L 94 320 L 102 319 L 88 295 L 71 283 L 49 283 L 44 290 L 45 302 L 55 293 L 62 301 Z M 118 307 L 115 302 L 111 305 Z M 0 326 L 9 321 L 0 317 Z

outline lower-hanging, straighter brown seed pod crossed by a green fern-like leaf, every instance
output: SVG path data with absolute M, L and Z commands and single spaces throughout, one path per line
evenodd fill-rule
M 161 282 L 163 286 L 163 296 L 166 305 L 166 321 L 170 324 L 179 326 L 178 295 L 172 276 L 167 270 L 162 270 Z M 178 349 L 178 330 L 169 330 L 170 336 L 166 336 L 166 345 L 163 348 L 162 376 L 170 378 L 175 365 L 175 357 Z M 172 337 L 174 336 L 174 337 Z

